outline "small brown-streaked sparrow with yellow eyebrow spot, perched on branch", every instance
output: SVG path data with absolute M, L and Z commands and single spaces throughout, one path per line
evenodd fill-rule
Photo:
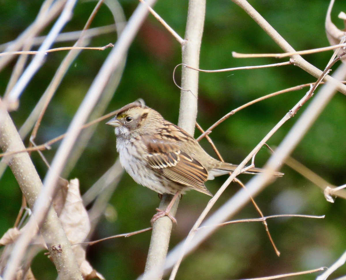
M 208 155 L 188 132 L 165 120 L 143 100 L 123 106 L 106 124 L 115 128 L 120 163 L 136 183 L 160 195 L 174 195 L 165 211 L 156 209 L 152 224 L 165 215 L 176 222 L 169 211 L 177 196 L 190 189 L 212 196 L 204 183 L 238 167 Z M 244 173 L 260 172 L 265 170 L 252 167 Z

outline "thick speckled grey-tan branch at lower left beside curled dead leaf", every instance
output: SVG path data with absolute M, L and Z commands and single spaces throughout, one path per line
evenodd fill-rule
M 4 152 L 24 150 L 24 144 L 9 114 L 4 110 L 1 100 L 0 114 L 2 120 L 0 123 L 0 147 Z M 33 210 L 36 198 L 42 190 L 42 182 L 28 153 L 19 153 L 7 160 L 22 193 L 25 195 L 31 210 Z M 50 201 L 47 201 L 47 204 L 49 203 Z M 82 279 L 70 242 L 67 240 L 60 220 L 52 207 L 48 211 L 46 220 L 40 227 L 40 232 L 47 244 L 55 267 L 59 272 L 60 279 Z M 30 235 L 31 232 L 26 232 L 25 234 Z M 62 248 L 61 252 L 53 250 L 53 246 L 58 244 Z M 13 273 L 18 268 L 18 263 L 11 262 L 11 260 L 8 263 L 9 266 L 6 269 L 3 279 L 12 279 Z

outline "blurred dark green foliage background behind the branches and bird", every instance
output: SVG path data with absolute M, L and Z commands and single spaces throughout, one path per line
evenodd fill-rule
M 15 39 L 35 19 L 42 1 L 0 0 L 0 44 Z M 64 31 L 81 30 L 96 2 L 79 2 L 71 21 Z M 250 1 L 254 8 L 296 50 L 328 46 L 324 21 L 328 0 L 257 0 Z M 137 6 L 137 1 L 121 1 L 127 19 Z M 188 1 L 158 1 L 155 10 L 180 36 L 184 36 Z M 332 12 L 334 23 L 343 28 L 337 18 L 346 11 L 345 2 L 336 0 Z M 101 7 L 92 27 L 113 24 L 106 6 Z M 43 32 L 46 34 L 49 29 Z M 116 41 L 111 33 L 92 39 L 90 46 L 104 46 Z M 54 46 L 72 46 L 73 42 Z M 281 49 L 238 6 L 231 1 L 207 1 L 206 21 L 200 54 L 201 69 L 220 69 L 247 65 L 261 65 L 287 61 L 287 59 L 236 59 L 232 51 L 239 53 L 279 53 Z M 48 107 L 38 131 L 36 143 L 44 143 L 64 133 L 80 102 L 92 83 L 109 49 L 83 51 L 69 69 Z M 313 54 L 305 58 L 324 69 L 332 52 Z M 34 108 L 38 99 L 61 63 L 66 52 L 47 55 L 45 64 L 30 82 L 20 99 L 19 109 L 11 113 L 19 128 Z M 138 98 L 143 98 L 169 121 L 177 123 L 180 90 L 174 85 L 172 73 L 181 63 L 181 48 L 172 36 L 149 16 L 131 45 L 120 85 L 107 109 L 111 112 Z M 6 89 L 15 62 L 0 75 L 1 96 Z M 180 69 L 176 79 L 179 81 Z M 204 129 L 223 115 L 244 103 L 284 88 L 315 82 L 309 74 L 295 66 L 252 69 L 225 73 L 200 73 L 199 111 L 197 121 Z M 266 135 L 282 116 L 298 102 L 308 88 L 285 93 L 252 105 L 219 125 L 212 133 L 224 159 L 239 163 Z M 299 115 L 289 120 L 268 141 L 277 146 L 292 127 Z M 293 157 L 328 180 L 330 184 L 342 185 L 346 181 L 346 99 L 338 93 L 330 101 L 299 146 Z M 195 136 L 199 132 L 196 130 Z M 25 139 L 28 144 L 28 139 Z M 206 140 L 202 145 L 215 156 Z M 44 151 L 52 160 L 58 144 Z M 44 178 L 47 168 L 36 153 L 32 159 Z M 100 123 L 82 157 L 72 170 L 70 178 L 79 178 L 84 193 L 107 171 L 117 157 L 113 130 Z M 261 167 L 269 157 L 263 148 L 256 157 Z M 326 215 L 324 220 L 285 218 L 269 220 L 268 225 L 274 242 L 281 251 L 277 257 L 268 241 L 261 223 L 244 223 L 220 228 L 182 263 L 176 279 L 240 279 L 270 276 L 301 270 L 330 266 L 346 248 L 346 203 L 336 199 L 326 202 L 322 190 L 289 167 L 281 169 L 283 178 L 268 186 L 256 202 L 264 215 L 311 214 Z M 227 177 L 219 177 L 206 185 L 215 194 Z M 239 177 L 243 182 L 249 175 Z M 222 205 L 239 186 L 231 184 L 215 206 Z M 184 195 L 177 212 L 177 226 L 171 238 L 171 248 L 189 232 L 195 219 L 206 206 L 209 197 L 194 191 Z M 109 202 L 112 216 L 103 217 L 93 240 L 106 236 L 132 232 L 149 226 L 149 221 L 159 204 L 157 195 L 134 183 L 127 174 Z M 9 169 L 0 179 L 0 235 L 13 226 L 21 204 L 21 192 Z M 235 218 L 258 217 L 252 205 L 246 206 Z M 150 232 L 129 238 L 113 239 L 88 248 L 88 260 L 106 279 L 135 279 L 144 270 Z M 42 265 L 42 264 L 47 265 Z M 54 266 L 44 252 L 34 259 L 33 272 L 37 279 L 55 279 Z M 342 276 L 342 267 L 333 276 Z M 315 274 L 294 277 L 314 279 Z

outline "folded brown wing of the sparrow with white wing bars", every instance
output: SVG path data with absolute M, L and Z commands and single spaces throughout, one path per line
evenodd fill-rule
M 175 183 L 212 196 L 204 186 L 208 171 L 199 161 L 181 152 L 173 141 L 156 137 L 143 137 L 143 140 L 149 153 L 150 168 Z

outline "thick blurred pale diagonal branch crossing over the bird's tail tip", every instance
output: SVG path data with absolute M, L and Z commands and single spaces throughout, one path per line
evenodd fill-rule
M 345 76 L 346 66 L 342 64 L 334 73 L 333 80 L 343 80 Z M 264 166 L 265 169 L 273 171 L 280 167 L 280 162 L 283 162 L 284 158 L 291 153 L 297 143 L 311 127 L 312 123 L 316 120 L 317 116 L 325 108 L 331 97 L 334 96 L 336 87 L 337 83 L 326 83 L 321 88 L 320 92 L 315 96 L 315 98 L 309 104 L 308 108 L 303 112 L 299 120 L 294 124 L 291 131 L 276 149 L 274 155 L 268 160 L 268 163 Z M 233 176 L 229 177 L 226 180 L 221 188 L 230 183 L 236 171 L 237 170 L 235 170 L 232 174 Z M 261 174 L 255 176 L 246 184 L 248 193 L 251 196 L 255 196 L 268 184 L 270 180 L 270 174 Z M 222 207 L 220 207 L 214 214 L 212 214 L 208 218 L 208 220 L 203 223 L 203 226 L 208 226 L 225 221 L 230 216 L 235 215 L 240 208 L 244 207 L 244 205 L 249 202 L 249 199 L 250 198 L 244 189 L 239 190 Z M 213 230 L 211 228 L 204 228 L 204 230 L 194 232 L 193 239 L 189 239 L 191 243 L 189 243 L 185 248 L 183 248 L 183 246 L 186 242 L 186 239 L 176 245 L 175 248 L 173 248 L 172 251 L 167 255 L 165 269 L 168 270 L 173 267 L 176 261 L 180 258 L 182 250 L 184 250 L 185 254 L 191 252 L 203 240 L 211 235 L 212 232 Z

